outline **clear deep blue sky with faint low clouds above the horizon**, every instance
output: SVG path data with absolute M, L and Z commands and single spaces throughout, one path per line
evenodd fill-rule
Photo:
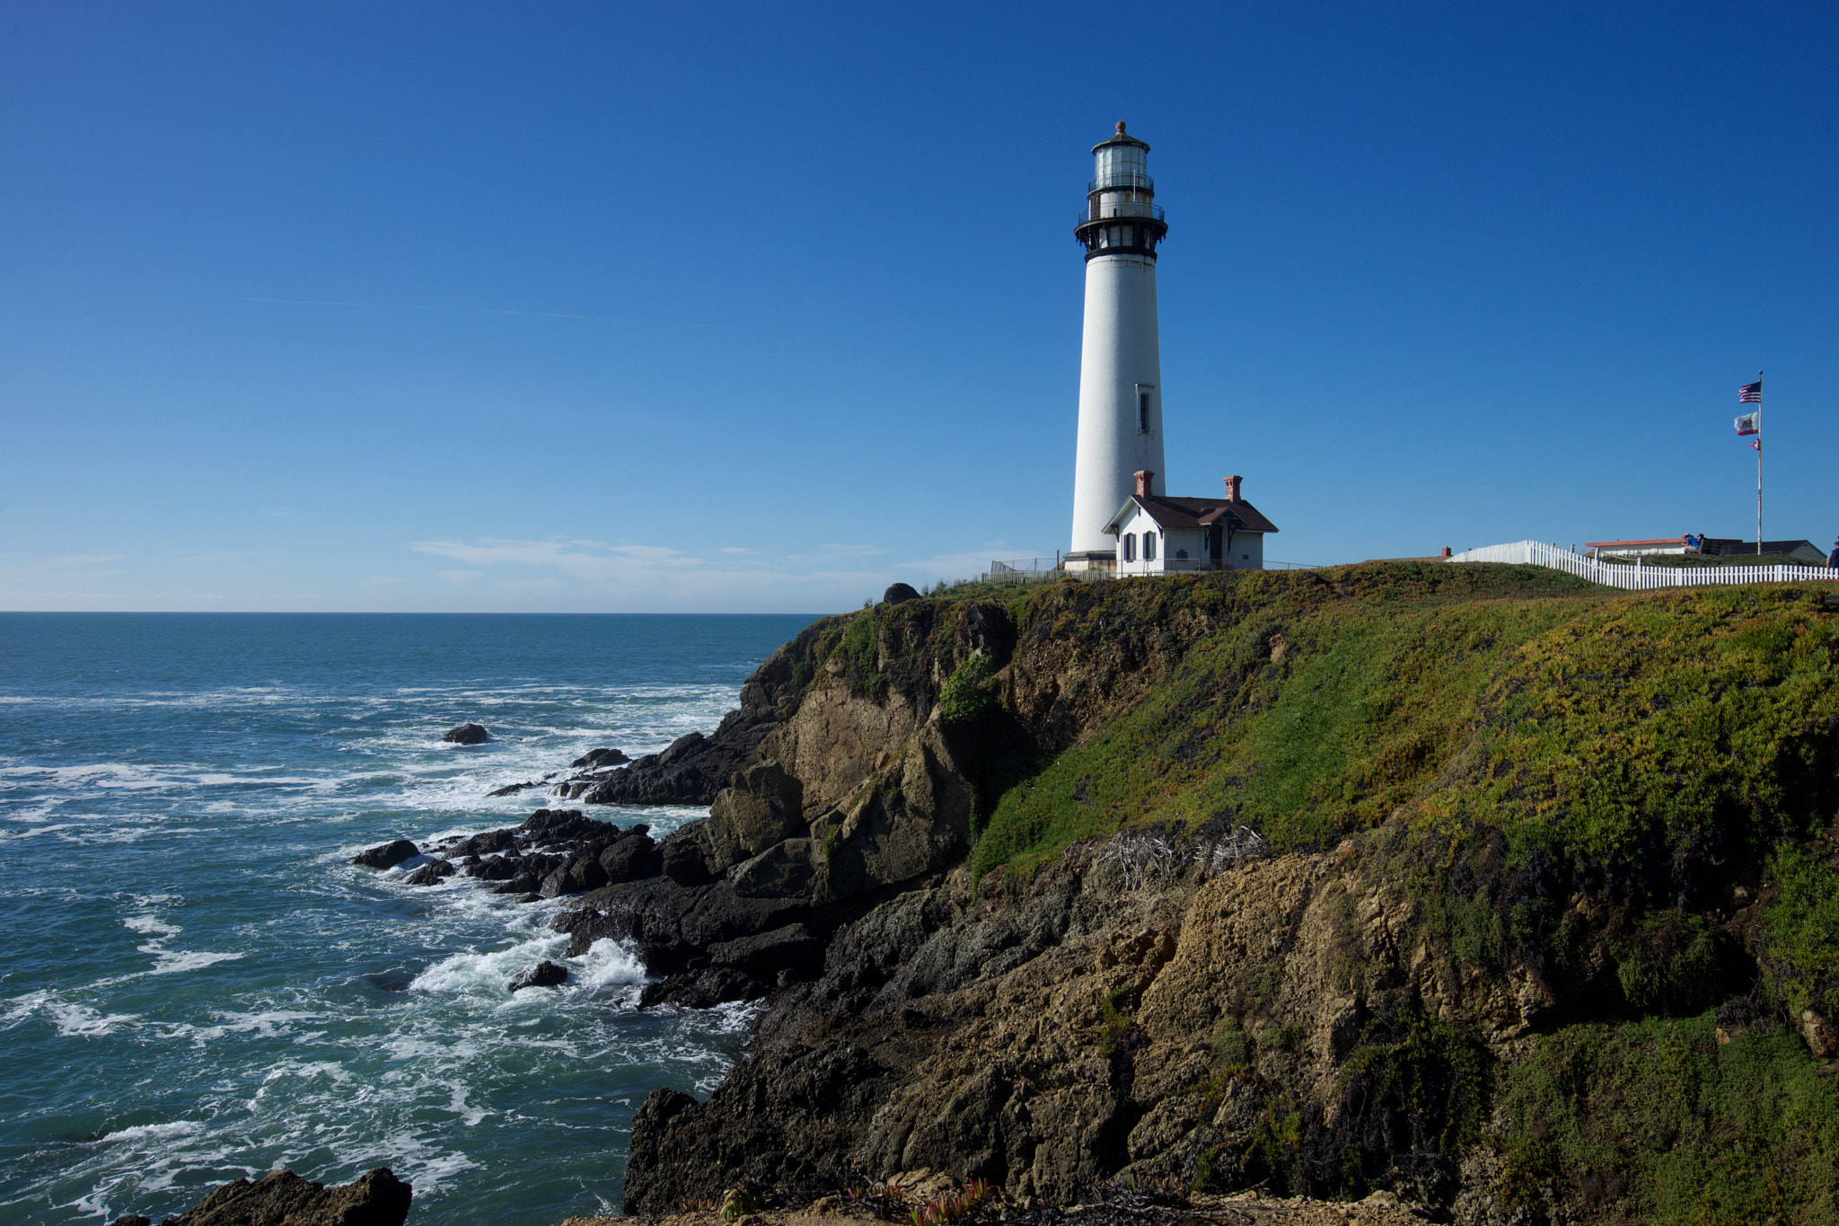
M 828 612 L 1170 493 L 1335 562 L 1839 533 L 1839 6 L 15 4 L 0 608 Z

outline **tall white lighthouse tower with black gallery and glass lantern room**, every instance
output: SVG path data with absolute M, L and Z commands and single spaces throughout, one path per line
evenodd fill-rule
M 1155 246 L 1168 226 L 1148 154 L 1122 119 L 1111 140 L 1092 145 L 1098 165 L 1074 228 L 1085 246 L 1085 336 L 1068 570 L 1114 566 L 1116 537 L 1105 526 L 1137 491 L 1137 472 L 1148 474 L 1148 493 L 1164 472 Z

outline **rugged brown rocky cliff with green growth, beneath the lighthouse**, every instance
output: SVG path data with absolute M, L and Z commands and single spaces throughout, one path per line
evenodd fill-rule
M 1835 608 L 1368 564 L 820 621 L 631 768 L 730 787 L 565 921 L 767 996 L 625 1208 L 923 1167 L 1833 1220 Z

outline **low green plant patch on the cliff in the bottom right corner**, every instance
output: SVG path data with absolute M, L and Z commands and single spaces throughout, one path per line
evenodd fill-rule
M 1556 1182 L 1587 1211 L 1653 1224 L 1839 1220 L 1839 1083 L 1780 1027 L 1716 1018 L 1572 1026 L 1502 1073 L 1501 1193 Z

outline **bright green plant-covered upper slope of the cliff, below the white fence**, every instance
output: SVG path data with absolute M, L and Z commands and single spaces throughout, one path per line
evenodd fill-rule
M 1140 706 L 1000 796 L 978 871 L 1216 816 L 1276 849 L 1405 820 L 1456 842 L 1501 831 L 1513 858 L 1639 862 L 1668 838 L 1767 840 L 1832 809 L 1839 671 L 1819 594 L 1357 579 L 1346 594 L 1243 575 L 1212 594 L 1230 616 Z

